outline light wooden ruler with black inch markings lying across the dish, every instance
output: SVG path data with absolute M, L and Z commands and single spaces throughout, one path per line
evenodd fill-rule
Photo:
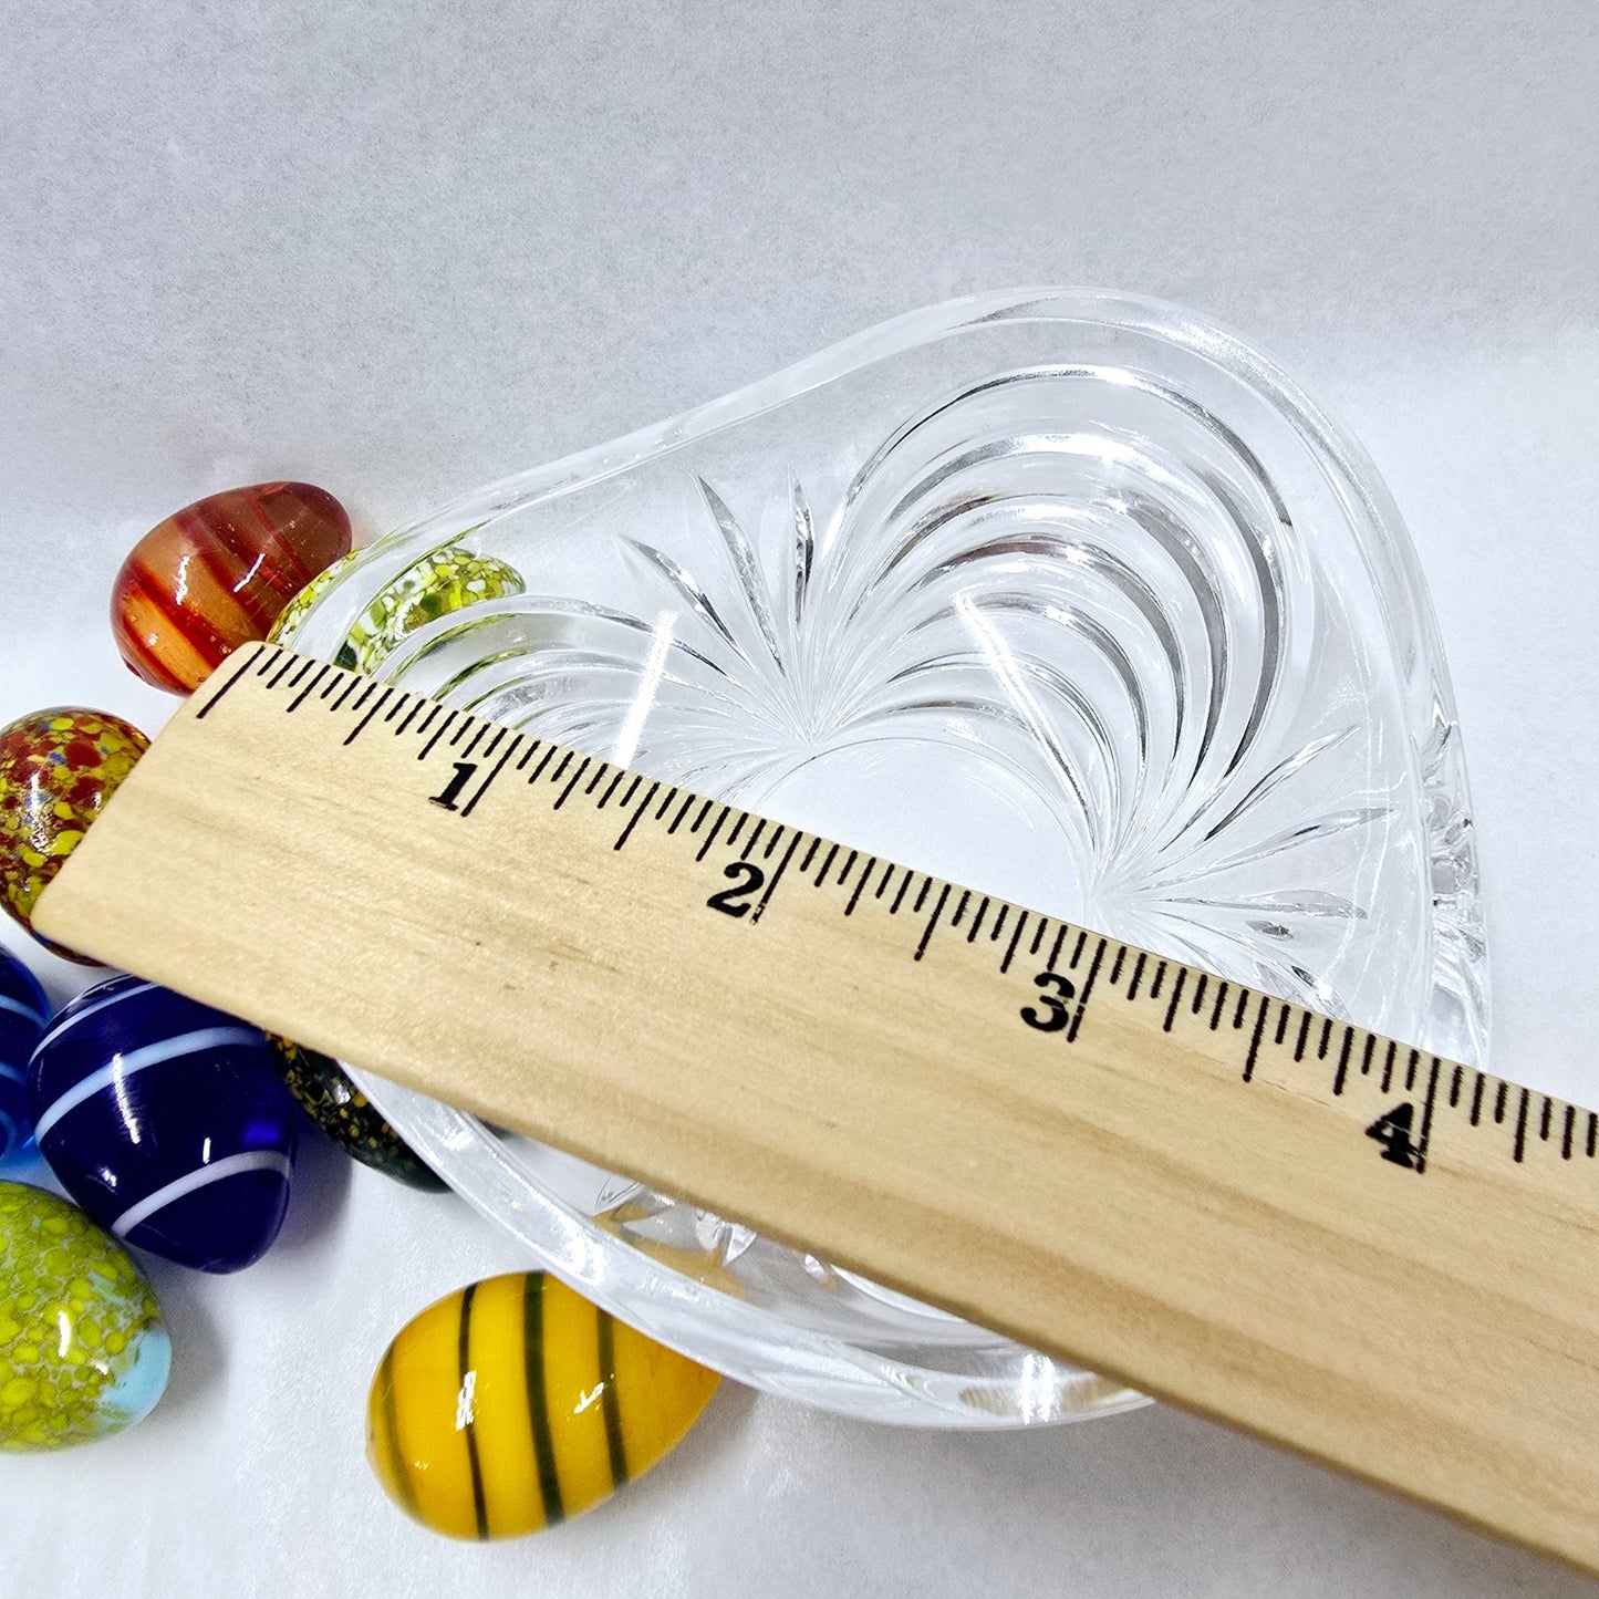
M 1599 1118 L 261 646 L 42 932 L 1599 1570 Z

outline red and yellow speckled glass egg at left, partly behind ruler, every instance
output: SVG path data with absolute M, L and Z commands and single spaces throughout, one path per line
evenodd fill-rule
M 38 710 L 0 728 L 0 903 L 29 932 L 45 884 L 149 745 L 120 716 L 77 705 Z

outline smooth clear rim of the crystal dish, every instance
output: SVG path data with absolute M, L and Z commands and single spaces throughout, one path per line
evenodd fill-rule
M 414 550 L 421 539 L 441 542 L 512 510 L 588 488 L 857 369 L 993 321 L 1087 321 L 1124 328 L 1196 355 L 1268 400 L 1326 472 L 1366 560 L 1375 568 L 1386 566 L 1386 571 L 1374 571 L 1374 582 L 1388 604 L 1390 635 L 1398 646 L 1404 643 L 1402 635 L 1410 633 L 1420 646 L 1412 670 L 1428 675 L 1436 704 L 1453 720 L 1453 694 L 1420 563 L 1402 518 L 1362 448 L 1313 405 L 1274 361 L 1238 334 L 1185 307 L 1110 291 L 993 291 L 908 312 L 707 405 L 451 500 L 376 540 L 366 548 L 366 558 L 352 564 L 350 574 L 368 572 L 385 552 L 401 545 Z M 328 604 L 339 587 L 342 579 L 320 596 L 312 616 Z M 1457 780 L 1465 801 L 1463 771 Z M 905 1358 L 910 1351 L 878 1354 L 843 1337 L 796 1327 L 774 1311 L 745 1305 L 612 1238 L 592 1217 L 540 1190 L 475 1118 L 366 1073 L 352 1071 L 352 1076 L 462 1198 L 542 1257 L 558 1278 L 660 1343 L 729 1377 L 839 1414 L 908 1426 L 1020 1428 L 1148 1404 L 1130 1388 L 1083 1372 L 1086 1393 L 1081 1396 L 1071 1396 L 1070 1377 L 1052 1385 L 1057 1402 L 1076 1399 L 1076 1409 L 1051 1414 L 1054 1406 L 1046 1402 L 1036 1415 L 1030 1415 L 1014 1378 L 918 1369 Z M 999 1335 L 995 1342 L 996 1348 L 1006 1345 Z M 764 1351 L 761 1361 L 750 1359 L 752 1345 Z M 1054 1364 L 1057 1372 L 1070 1374 L 1065 1362 Z M 985 1391 L 991 1394 L 988 1404 L 996 1409 L 985 1404 Z

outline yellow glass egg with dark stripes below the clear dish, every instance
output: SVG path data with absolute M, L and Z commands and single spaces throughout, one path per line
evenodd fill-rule
M 542 1271 L 430 1305 L 384 1354 L 366 1455 L 454 1538 L 516 1538 L 609 1498 L 694 1425 L 721 1378 Z

